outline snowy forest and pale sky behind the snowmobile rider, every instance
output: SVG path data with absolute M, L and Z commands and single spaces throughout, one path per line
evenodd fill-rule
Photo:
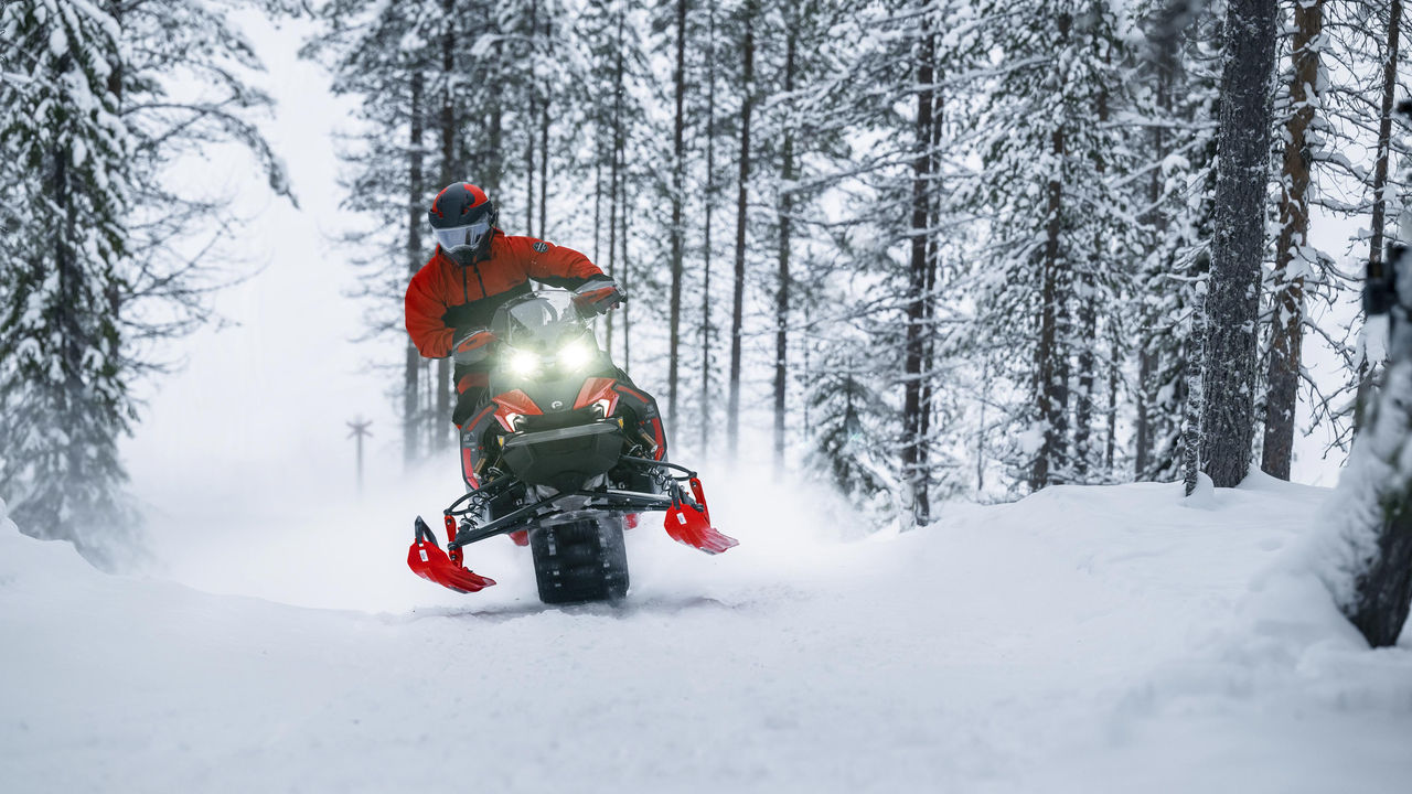
M 304 490 L 345 483 L 359 413 L 373 476 L 445 468 L 446 373 L 400 311 L 453 179 L 624 283 L 603 343 L 674 455 L 765 458 L 904 526 L 952 497 L 1180 478 L 1210 459 L 1213 370 L 1250 401 L 1248 461 L 1329 483 L 1381 363 L 1357 290 L 1406 205 L 1398 1 L 1281 3 L 1243 38 L 1268 44 L 1241 85 L 1269 102 L 1243 119 L 1268 144 L 1234 367 L 1203 360 L 1203 301 L 1231 211 L 1228 30 L 1258 4 L 109 6 L 4 10 L 21 519 L 112 511 L 128 472 L 162 504 L 295 487 L 271 459 Z M 55 244 L 34 174 L 106 226 Z M 52 311 L 76 294 L 107 322 Z M 92 454 L 44 454 L 80 432 Z

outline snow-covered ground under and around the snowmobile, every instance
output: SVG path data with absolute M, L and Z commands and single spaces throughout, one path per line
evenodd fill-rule
M 741 547 L 644 524 L 620 606 L 541 606 L 500 538 L 496 588 L 414 578 L 411 492 L 167 537 L 185 583 L 0 526 L 0 790 L 1408 791 L 1412 647 L 1289 564 L 1323 490 L 1056 487 L 861 537 L 714 479 Z

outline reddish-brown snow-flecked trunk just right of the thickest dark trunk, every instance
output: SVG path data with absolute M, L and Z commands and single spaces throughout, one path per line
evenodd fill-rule
M 1281 171 L 1279 240 L 1275 244 L 1274 302 L 1269 328 L 1269 367 L 1265 393 L 1265 442 L 1260 468 L 1269 476 L 1289 479 L 1295 446 L 1295 408 L 1299 404 L 1299 359 L 1305 325 L 1305 277 L 1295 257 L 1309 235 L 1308 131 L 1319 102 L 1319 38 L 1323 34 L 1324 0 L 1295 4 L 1295 41 L 1289 54 L 1293 79 L 1289 99 L 1293 113 L 1285 123 L 1285 160 Z

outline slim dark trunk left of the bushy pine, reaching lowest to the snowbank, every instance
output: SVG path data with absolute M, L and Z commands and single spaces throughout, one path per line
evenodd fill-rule
M 902 380 L 902 473 L 911 490 L 912 521 L 923 526 L 931 520 L 929 472 L 926 470 L 926 439 L 922 438 L 922 362 L 926 348 L 926 266 L 932 179 L 932 99 L 935 89 L 933 62 L 936 42 L 931 20 L 922 20 L 922 41 L 916 59 L 916 154 L 912 157 L 912 259 L 907 285 L 907 348 Z

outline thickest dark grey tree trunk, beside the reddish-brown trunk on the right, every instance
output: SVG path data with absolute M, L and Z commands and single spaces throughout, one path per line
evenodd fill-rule
M 1251 463 L 1276 16 L 1269 0 L 1231 0 L 1226 13 L 1202 417 L 1206 473 L 1217 487 L 1238 485 Z

